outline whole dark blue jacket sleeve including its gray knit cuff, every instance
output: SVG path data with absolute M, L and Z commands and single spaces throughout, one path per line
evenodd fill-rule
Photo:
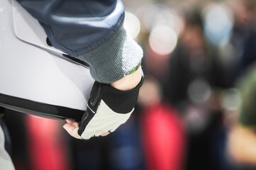
M 89 64 L 101 83 L 122 79 L 143 51 L 123 28 L 121 0 L 17 0 L 41 26 L 52 45 Z

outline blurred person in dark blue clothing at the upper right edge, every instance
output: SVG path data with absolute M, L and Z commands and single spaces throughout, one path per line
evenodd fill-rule
M 230 4 L 235 13 L 235 26 L 231 38 L 233 45 L 233 83 L 246 72 L 247 67 L 256 60 L 256 1 L 243 0 Z

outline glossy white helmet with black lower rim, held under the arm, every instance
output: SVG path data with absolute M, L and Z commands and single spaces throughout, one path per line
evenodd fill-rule
M 48 45 L 38 21 L 16 1 L 0 1 L 0 106 L 79 120 L 93 83 L 88 67 Z

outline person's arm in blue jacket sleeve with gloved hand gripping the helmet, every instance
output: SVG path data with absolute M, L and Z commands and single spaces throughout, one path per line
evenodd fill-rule
M 39 21 L 51 45 L 89 64 L 95 79 L 81 122 L 63 126 L 69 135 L 88 140 L 125 123 L 143 84 L 143 52 L 123 28 L 122 2 L 17 1 Z

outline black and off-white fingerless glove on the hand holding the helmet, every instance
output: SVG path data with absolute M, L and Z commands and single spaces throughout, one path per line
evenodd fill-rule
M 142 84 L 143 78 L 134 89 L 121 91 L 95 81 L 87 103 L 87 111 L 79 123 L 78 134 L 82 139 L 87 140 L 94 135 L 113 132 L 126 123 L 133 113 Z

